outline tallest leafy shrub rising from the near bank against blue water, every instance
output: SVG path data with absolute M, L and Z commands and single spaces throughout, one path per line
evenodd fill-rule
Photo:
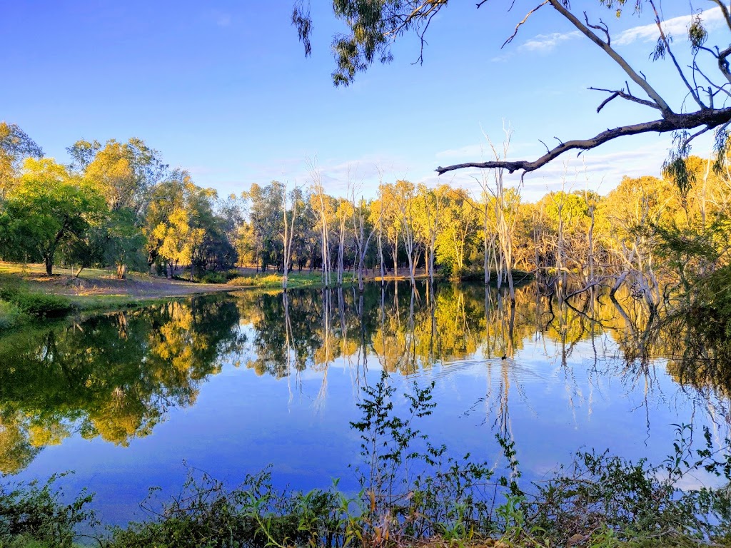
M 363 516 L 366 544 L 442 535 L 466 539 L 487 533 L 492 522 L 492 471 L 488 463 L 447 455 L 417 427 L 433 411 L 433 383 L 405 393 L 406 410 L 395 411 L 395 387 L 384 371 L 374 387 L 363 387 L 362 417 L 350 426 L 360 433 L 365 468 L 356 467 L 368 503 Z

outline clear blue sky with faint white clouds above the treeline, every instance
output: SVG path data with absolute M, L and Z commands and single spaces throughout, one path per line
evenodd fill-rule
M 683 94 L 669 64 L 648 61 L 649 13 L 616 20 L 594 0 L 574 3 L 602 15 L 621 53 L 680 110 Z M 618 88 L 626 76 L 550 7 L 501 50 L 535 2 L 517 0 L 511 12 L 509 4 L 475 9 L 474 1 L 453 1 L 429 29 L 422 66 L 412 64 L 417 42 L 404 39 L 393 63 L 335 88 L 330 42 L 342 28 L 325 0 L 312 0 L 308 59 L 289 24 L 292 0 L 0 0 L 0 120 L 18 123 L 59 161 L 69 160 L 64 149 L 77 139 L 134 136 L 221 194 L 273 179 L 306 185 L 306 160 L 317 158 L 330 193 L 344 193 L 350 167 L 370 196 L 376 167 L 386 180 L 433 185 L 437 165 L 488 159 L 485 135 L 500 143 L 503 123 L 513 130 L 509 157 L 534 159 L 539 140 L 550 145 L 657 118 L 620 100 L 596 114 L 605 95 L 586 88 Z M 660 5 L 676 50 L 686 49 L 686 21 L 673 18 L 687 15 L 689 4 Z M 568 166 L 559 159 L 526 176 L 523 192 L 537 199 L 567 171 L 567 187 L 583 189 L 588 178 L 605 193 L 625 173 L 658 174 L 669 145 L 669 135 L 648 135 L 579 160 L 572 154 Z M 695 151 L 705 155 L 708 140 Z M 441 179 L 474 188 L 474 175 Z

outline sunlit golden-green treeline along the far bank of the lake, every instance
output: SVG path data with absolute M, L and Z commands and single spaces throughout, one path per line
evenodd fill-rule
M 219 197 L 188 172 L 171 170 L 139 139 L 80 140 L 69 165 L 42 156 L 18 126 L 0 123 L 0 255 L 78 267 L 115 265 L 186 276 L 235 265 L 321 270 L 327 286 L 352 269 L 359 285 L 370 269 L 401 267 L 455 278 L 484 275 L 510 286 L 512 272 L 535 273 L 568 296 L 626 284 L 650 308 L 668 288 L 727 265 L 731 176 L 723 162 L 690 157 L 664 178 L 623 178 L 607 196 L 570 181 L 536 203 L 485 173 L 481 191 L 407 180 L 383 182 L 366 199 L 348 182 L 346 196 L 311 183 L 251 185 Z M 569 289 L 571 288 L 571 289 Z M 514 294 L 514 292 L 512 292 Z

